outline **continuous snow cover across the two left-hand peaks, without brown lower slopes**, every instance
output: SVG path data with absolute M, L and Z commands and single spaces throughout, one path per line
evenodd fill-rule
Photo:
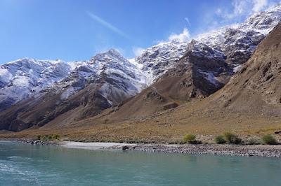
M 115 82 L 112 87 L 104 83 L 101 88 L 104 94 L 121 91 L 129 97 L 141 92 L 146 85 L 140 69 L 116 50 L 84 62 L 18 59 L 0 66 L 0 111 L 49 91 L 63 92 L 62 99 L 67 99 L 83 89 L 86 83 L 102 77 Z

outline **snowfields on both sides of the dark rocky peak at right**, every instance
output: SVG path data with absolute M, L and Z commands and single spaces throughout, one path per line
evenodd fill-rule
M 269 8 L 261 13 L 251 15 L 241 24 L 222 27 L 206 34 L 195 36 L 199 43 L 209 46 L 214 51 L 225 55 L 226 62 L 233 64 L 233 71 L 249 59 L 256 46 L 266 37 L 281 20 L 281 6 Z M 204 47 L 202 45 L 202 47 Z M 176 66 L 178 59 L 183 57 L 188 43 L 171 41 L 159 43 L 144 50 L 135 58 L 141 64 L 141 70 L 151 85 L 166 71 Z

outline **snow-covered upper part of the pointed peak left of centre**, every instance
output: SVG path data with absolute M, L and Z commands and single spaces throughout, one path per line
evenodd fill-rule
M 69 64 L 74 68 L 70 75 L 44 91 L 63 92 L 61 99 L 67 99 L 86 85 L 103 82 L 99 90 L 112 104 L 116 101 L 110 100 L 108 95 L 124 96 L 125 99 L 146 87 L 146 78 L 141 70 L 114 49 L 100 53 L 89 61 Z

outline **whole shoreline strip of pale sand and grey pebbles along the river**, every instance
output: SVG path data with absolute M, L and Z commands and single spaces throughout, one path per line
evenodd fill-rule
M 30 145 L 60 145 L 69 148 L 129 150 L 143 152 L 164 152 L 197 155 L 231 155 L 242 157 L 281 157 L 281 145 L 218 145 L 218 144 L 127 144 L 127 143 L 81 143 L 72 141 L 39 141 L 32 139 L 13 139 Z

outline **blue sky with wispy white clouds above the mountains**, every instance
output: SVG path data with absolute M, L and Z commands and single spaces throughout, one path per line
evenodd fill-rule
M 110 48 L 129 59 L 276 3 L 281 0 L 0 0 L 0 64 L 23 57 L 87 60 Z

